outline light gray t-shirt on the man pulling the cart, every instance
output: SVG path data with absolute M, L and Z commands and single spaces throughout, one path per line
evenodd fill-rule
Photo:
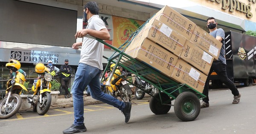
M 93 15 L 88 20 L 86 29 L 93 29 L 100 31 L 106 29 L 105 23 L 99 15 Z M 84 63 L 100 70 L 103 70 L 102 57 L 104 51 L 104 44 L 99 41 L 87 37 L 83 37 L 83 43 L 81 48 L 81 59 L 79 63 Z

